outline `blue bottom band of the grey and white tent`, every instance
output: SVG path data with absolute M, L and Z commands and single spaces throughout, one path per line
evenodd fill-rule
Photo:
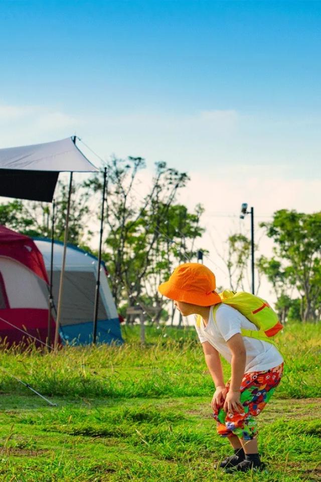
M 93 340 L 93 322 L 60 326 L 60 337 L 64 345 L 89 345 Z M 124 343 L 118 318 L 100 319 L 97 322 L 97 344 L 122 345 Z

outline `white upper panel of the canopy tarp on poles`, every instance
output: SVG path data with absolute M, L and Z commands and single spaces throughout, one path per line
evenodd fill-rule
M 98 171 L 76 147 L 71 137 L 44 144 L 0 149 L 0 169 L 54 172 Z

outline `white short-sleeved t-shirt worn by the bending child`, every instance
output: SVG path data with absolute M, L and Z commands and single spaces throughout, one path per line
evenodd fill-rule
M 237 309 L 224 303 L 217 308 L 215 320 L 211 306 L 208 324 L 205 326 L 202 319 L 201 327 L 195 323 L 195 328 L 200 342 L 209 342 L 229 363 L 232 361 L 232 354 L 226 342 L 236 333 L 241 333 L 241 328 L 258 331 Z M 246 349 L 245 372 L 269 370 L 283 362 L 279 351 L 271 343 L 250 337 L 243 337 L 243 342 Z

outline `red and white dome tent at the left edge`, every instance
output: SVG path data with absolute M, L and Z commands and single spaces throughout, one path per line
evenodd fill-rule
M 43 257 L 28 236 L 0 226 L 0 338 L 9 345 L 28 335 L 46 342 L 48 277 Z M 51 323 L 51 334 L 55 322 Z M 29 341 L 33 341 L 29 337 Z M 60 340 L 59 340 L 60 342 Z M 37 343 L 39 346 L 39 342 Z

